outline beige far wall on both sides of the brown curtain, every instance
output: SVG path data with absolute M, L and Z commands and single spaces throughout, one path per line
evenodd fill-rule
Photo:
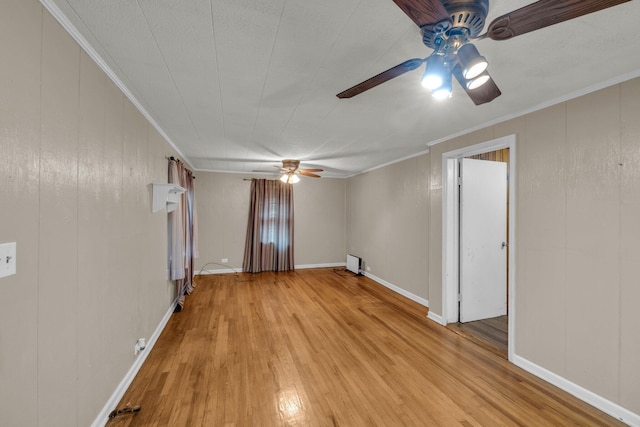
M 229 260 L 242 268 L 251 182 L 246 175 L 217 172 L 196 174 L 200 258 L 207 263 Z M 294 262 L 296 265 L 344 263 L 346 256 L 346 180 L 303 177 L 294 186 Z M 225 269 L 210 264 L 206 270 Z

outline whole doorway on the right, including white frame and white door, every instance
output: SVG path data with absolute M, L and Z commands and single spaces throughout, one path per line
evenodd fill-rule
M 508 358 L 515 325 L 514 160 L 515 136 L 443 155 L 443 320 Z M 477 167 L 478 175 L 465 172 Z M 486 170 L 493 178 L 485 185 Z M 472 185 L 461 190 L 469 179 Z

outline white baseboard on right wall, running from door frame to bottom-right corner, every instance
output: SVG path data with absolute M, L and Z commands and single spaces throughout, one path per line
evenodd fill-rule
M 567 393 L 572 394 L 578 399 L 588 403 L 595 408 L 600 409 L 602 412 L 611 415 L 612 417 L 622 421 L 623 423 L 630 426 L 640 426 L 640 415 L 635 414 L 628 409 L 625 409 L 622 406 L 613 403 L 610 400 L 605 399 L 604 397 L 599 396 L 594 392 L 589 391 L 586 388 L 581 387 L 578 384 L 575 384 L 568 379 L 549 371 L 548 369 L 543 368 L 542 366 L 538 366 L 521 356 L 514 355 L 512 362 L 514 365 L 519 366 L 525 371 L 542 378 L 548 383 L 551 383 L 554 386 L 566 391 Z

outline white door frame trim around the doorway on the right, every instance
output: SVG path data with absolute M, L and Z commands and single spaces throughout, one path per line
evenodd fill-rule
M 509 344 L 508 357 L 515 355 L 516 322 L 516 136 L 509 135 L 442 155 L 442 322 L 458 321 L 459 200 L 458 160 L 491 151 L 509 148 Z

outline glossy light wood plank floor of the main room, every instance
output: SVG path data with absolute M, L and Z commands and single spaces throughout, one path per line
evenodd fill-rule
M 108 426 L 622 425 L 425 316 L 332 269 L 201 276 Z

